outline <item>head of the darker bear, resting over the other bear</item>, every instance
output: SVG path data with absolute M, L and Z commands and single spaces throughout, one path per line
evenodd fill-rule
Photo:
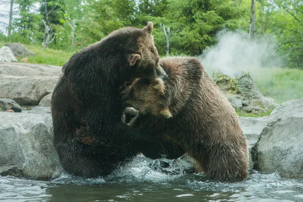
M 110 40 L 106 46 L 112 47 L 115 55 L 125 57 L 127 64 L 120 69 L 121 75 L 126 81 L 143 77 L 149 80 L 161 78 L 167 79 L 167 74 L 159 65 L 159 55 L 154 43 L 153 23 L 142 29 L 125 27 L 110 34 Z

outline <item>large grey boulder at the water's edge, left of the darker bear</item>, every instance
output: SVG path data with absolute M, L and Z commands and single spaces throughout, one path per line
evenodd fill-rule
M 50 114 L 0 112 L 0 123 L 0 175 L 38 180 L 60 176 Z

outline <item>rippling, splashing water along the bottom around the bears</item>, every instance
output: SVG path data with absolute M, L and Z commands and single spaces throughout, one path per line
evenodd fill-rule
M 171 168 L 174 174 L 157 165 L 138 157 L 95 179 L 66 173 L 52 181 L 0 176 L 0 201 L 303 201 L 303 180 L 251 171 L 244 182 L 219 183 L 203 174 L 185 174 L 178 162 Z

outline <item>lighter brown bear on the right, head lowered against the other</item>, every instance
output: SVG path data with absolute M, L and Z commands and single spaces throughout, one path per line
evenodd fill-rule
M 123 92 L 127 106 L 139 111 L 129 125 L 172 141 L 175 147 L 166 148 L 168 155 L 186 152 L 209 179 L 245 179 L 247 141 L 219 87 L 195 58 L 165 58 L 160 66 L 168 74 L 167 81 L 139 78 Z

